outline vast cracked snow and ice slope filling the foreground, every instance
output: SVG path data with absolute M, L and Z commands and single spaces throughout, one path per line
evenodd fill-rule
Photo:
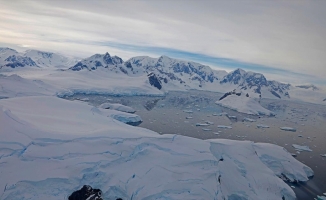
M 83 102 L 0 100 L 0 199 L 66 199 L 87 184 L 104 199 L 295 199 L 283 180 L 313 171 L 282 147 L 158 135 Z

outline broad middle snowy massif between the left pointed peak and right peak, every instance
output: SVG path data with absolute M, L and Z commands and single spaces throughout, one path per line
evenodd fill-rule
M 218 83 L 225 71 L 212 70 L 196 62 L 173 59 L 167 56 L 151 58 L 139 56 L 125 62 L 138 73 L 154 73 L 165 86 L 170 88 L 200 89 Z

